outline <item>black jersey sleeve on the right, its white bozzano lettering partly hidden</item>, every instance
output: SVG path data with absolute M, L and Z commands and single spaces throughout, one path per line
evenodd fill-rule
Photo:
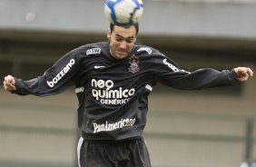
M 187 72 L 163 54 L 155 56 L 154 63 L 154 73 L 157 80 L 160 83 L 177 89 L 198 90 L 228 86 L 236 82 L 234 70 L 218 71 L 205 68 Z

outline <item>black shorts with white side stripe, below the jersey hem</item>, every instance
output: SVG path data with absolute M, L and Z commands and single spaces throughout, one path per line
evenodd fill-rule
M 77 146 L 79 167 L 151 167 L 143 138 L 125 141 L 88 141 Z

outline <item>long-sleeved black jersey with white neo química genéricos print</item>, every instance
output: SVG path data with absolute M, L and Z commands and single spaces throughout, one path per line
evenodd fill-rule
M 148 112 L 148 95 L 161 82 L 182 90 L 231 85 L 235 72 L 200 69 L 187 72 L 159 51 L 134 45 L 124 59 L 114 59 L 109 43 L 85 44 L 65 54 L 44 75 L 15 79 L 14 93 L 46 96 L 74 85 L 78 125 L 87 140 L 141 137 Z

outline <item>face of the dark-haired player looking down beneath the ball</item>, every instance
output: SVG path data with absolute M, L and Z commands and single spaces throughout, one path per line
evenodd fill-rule
M 110 54 L 116 59 L 123 59 L 132 51 L 136 42 L 136 29 L 134 26 L 122 27 L 115 25 L 113 32 L 108 30 L 110 41 Z

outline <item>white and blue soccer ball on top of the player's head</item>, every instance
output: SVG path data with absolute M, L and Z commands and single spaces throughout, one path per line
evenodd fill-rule
M 113 25 L 133 25 L 143 15 L 143 1 L 106 0 L 104 13 Z

